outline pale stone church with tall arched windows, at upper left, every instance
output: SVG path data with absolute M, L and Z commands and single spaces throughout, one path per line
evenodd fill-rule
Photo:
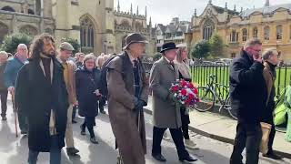
M 0 43 L 5 35 L 26 32 L 33 36 L 47 32 L 62 38 L 74 38 L 82 51 L 120 53 L 124 38 L 132 32 L 144 34 L 150 44 L 146 55 L 155 49 L 155 29 L 147 25 L 147 15 L 120 11 L 114 0 L 1 0 Z

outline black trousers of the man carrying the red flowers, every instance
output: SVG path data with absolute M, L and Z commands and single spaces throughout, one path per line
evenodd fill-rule
M 153 128 L 153 148 L 152 148 L 153 155 L 158 155 L 162 153 L 161 142 L 165 130 L 166 128 L 156 128 L 156 127 Z M 185 149 L 181 128 L 170 128 L 170 133 L 176 145 L 176 150 L 179 159 L 184 159 L 188 157 L 189 153 Z

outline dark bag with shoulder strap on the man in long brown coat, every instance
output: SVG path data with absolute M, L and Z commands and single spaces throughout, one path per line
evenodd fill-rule
M 122 60 L 122 73 L 125 72 L 125 56 L 124 55 L 114 55 L 111 56 L 110 58 L 108 58 L 105 63 L 103 64 L 103 66 L 101 67 L 100 70 L 100 81 L 99 81 L 99 90 L 100 93 L 103 97 L 107 97 L 108 96 L 108 88 L 107 88 L 107 72 L 108 72 L 108 68 L 106 67 L 108 65 L 108 63 L 113 60 L 116 56 L 119 56 Z M 123 76 L 124 77 L 124 76 Z

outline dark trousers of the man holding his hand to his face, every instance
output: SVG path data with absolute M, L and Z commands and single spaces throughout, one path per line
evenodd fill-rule
M 242 152 L 246 148 L 246 164 L 257 164 L 259 147 L 262 139 L 262 128 L 259 123 L 239 122 L 236 126 L 236 138 L 230 164 L 242 164 Z

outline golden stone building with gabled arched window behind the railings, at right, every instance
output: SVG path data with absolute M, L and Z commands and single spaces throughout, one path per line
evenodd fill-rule
M 261 8 L 228 9 L 212 4 L 209 0 L 204 12 L 192 17 L 192 39 L 194 46 L 202 39 L 208 40 L 217 33 L 227 45 L 226 55 L 238 56 L 249 38 L 259 38 L 263 48 L 277 47 L 286 63 L 291 62 L 291 4 L 270 5 L 269 0 Z

